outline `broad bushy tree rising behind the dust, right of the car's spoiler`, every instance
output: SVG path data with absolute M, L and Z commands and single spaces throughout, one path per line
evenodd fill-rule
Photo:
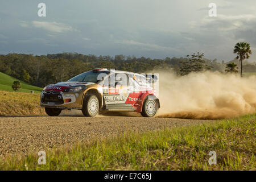
M 203 60 L 204 53 L 197 52 L 193 53 L 191 56 L 187 56 L 187 60 L 180 61 L 180 75 L 188 75 L 191 72 L 202 72 L 205 70 L 210 70 L 212 67 L 205 64 Z

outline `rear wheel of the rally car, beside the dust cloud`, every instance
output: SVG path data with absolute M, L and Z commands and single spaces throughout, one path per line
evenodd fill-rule
M 141 115 L 143 117 L 154 117 L 157 111 L 158 103 L 156 102 L 156 100 L 146 98 L 143 103 Z

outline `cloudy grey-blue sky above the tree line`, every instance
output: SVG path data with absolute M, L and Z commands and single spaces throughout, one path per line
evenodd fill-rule
M 38 4 L 46 16 L 38 16 Z M 209 3 L 217 5 L 210 17 Z M 256 61 L 255 0 L 23 0 L 0 2 L 0 54 L 77 52 L 164 59 L 203 52 L 233 60 L 237 42 Z

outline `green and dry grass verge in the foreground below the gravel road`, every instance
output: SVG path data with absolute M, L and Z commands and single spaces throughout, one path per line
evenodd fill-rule
M 46 164 L 37 154 L 5 156 L 0 170 L 255 170 L 256 114 L 122 135 L 46 151 Z M 216 151 L 217 164 L 208 155 Z

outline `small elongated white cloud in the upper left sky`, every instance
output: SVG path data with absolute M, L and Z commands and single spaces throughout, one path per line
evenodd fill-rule
M 33 21 L 32 26 L 36 28 L 43 28 L 44 30 L 50 32 L 65 32 L 65 31 L 73 31 L 74 29 L 71 26 L 68 26 L 64 23 L 57 23 L 57 22 L 38 22 Z

